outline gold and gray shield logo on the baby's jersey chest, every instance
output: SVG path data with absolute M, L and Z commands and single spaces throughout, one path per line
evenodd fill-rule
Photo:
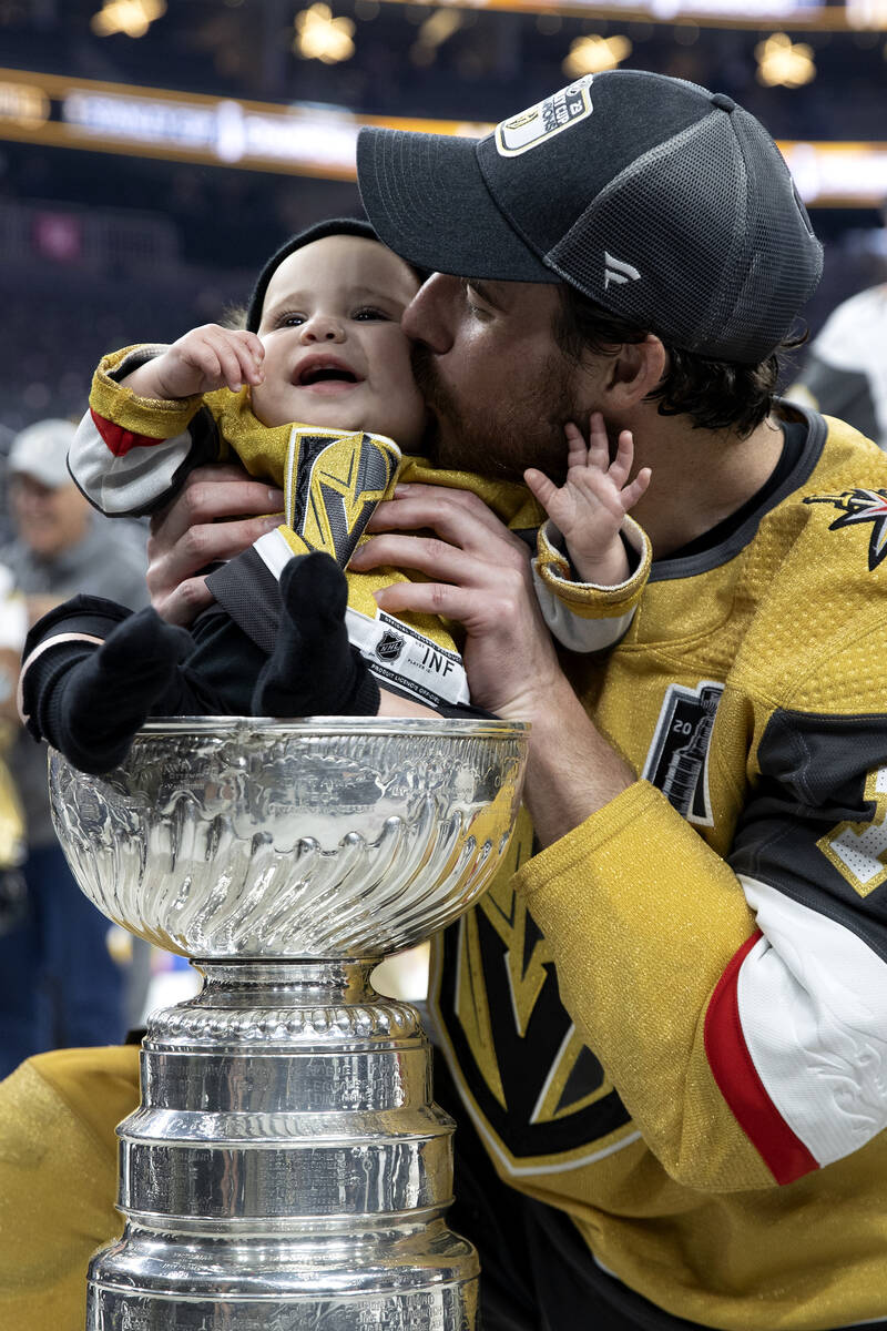
M 344 568 L 399 463 L 400 450 L 384 435 L 294 429 L 285 475 L 287 526 Z

